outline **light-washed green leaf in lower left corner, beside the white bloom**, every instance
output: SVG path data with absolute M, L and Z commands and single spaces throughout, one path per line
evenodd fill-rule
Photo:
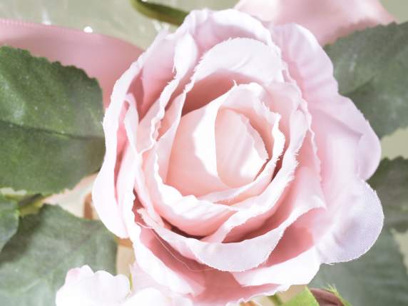
M 116 241 L 99 221 L 84 220 L 45 205 L 21 218 L 0 253 L 0 305 L 55 305 L 55 294 L 72 267 L 115 274 Z

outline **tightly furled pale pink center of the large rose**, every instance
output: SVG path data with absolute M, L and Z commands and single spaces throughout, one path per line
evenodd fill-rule
M 166 183 L 202 196 L 252 182 L 268 153 L 246 116 L 223 107 L 225 97 L 185 114 L 173 142 Z

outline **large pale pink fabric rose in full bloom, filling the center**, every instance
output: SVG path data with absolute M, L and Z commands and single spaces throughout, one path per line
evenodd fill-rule
M 193 11 L 117 81 L 103 128 L 101 220 L 194 305 L 306 284 L 382 228 L 379 140 L 302 26 Z

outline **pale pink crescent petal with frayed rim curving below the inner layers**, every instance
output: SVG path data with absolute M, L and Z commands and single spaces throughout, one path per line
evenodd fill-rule
M 304 183 L 304 180 L 300 180 L 300 182 Z M 307 187 L 304 185 L 303 188 L 309 192 L 314 190 L 309 187 L 309 185 Z M 297 190 L 297 188 L 294 188 L 294 190 Z M 292 200 L 290 200 L 292 206 L 285 208 L 285 213 L 282 214 L 283 218 L 276 218 L 276 228 L 272 226 L 266 233 L 239 243 L 208 243 L 195 238 L 185 238 L 173 233 L 171 230 L 160 227 L 143 210 L 139 210 L 139 213 L 141 213 L 146 224 L 151 226 L 160 238 L 163 238 L 184 257 L 198 260 L 198 262 L 214 267 L 217 270 L 240 272 L 257 267 L 257 265 L 264 262 L 280 238 L 282 238 L 286 228 L 294 223 L 297 218 L 313 208 L 324 206 L 320 198 L 316 196 L 312 200 L 305 201 L 300 195 L 303 195 L 303 193 L 294 194 Z M 237 214 L 235 213 L 235 215 Z M 279 222 L 282 223 L 279 224 Z M 253 250 L 257 250 L 257 252 L 253 253 Z

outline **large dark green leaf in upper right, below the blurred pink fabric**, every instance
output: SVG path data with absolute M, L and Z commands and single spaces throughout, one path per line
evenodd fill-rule
M 340 93 L 352 98 L 378 136 L 408 126 L 408 23 L 357 31 L 325 50 Z

